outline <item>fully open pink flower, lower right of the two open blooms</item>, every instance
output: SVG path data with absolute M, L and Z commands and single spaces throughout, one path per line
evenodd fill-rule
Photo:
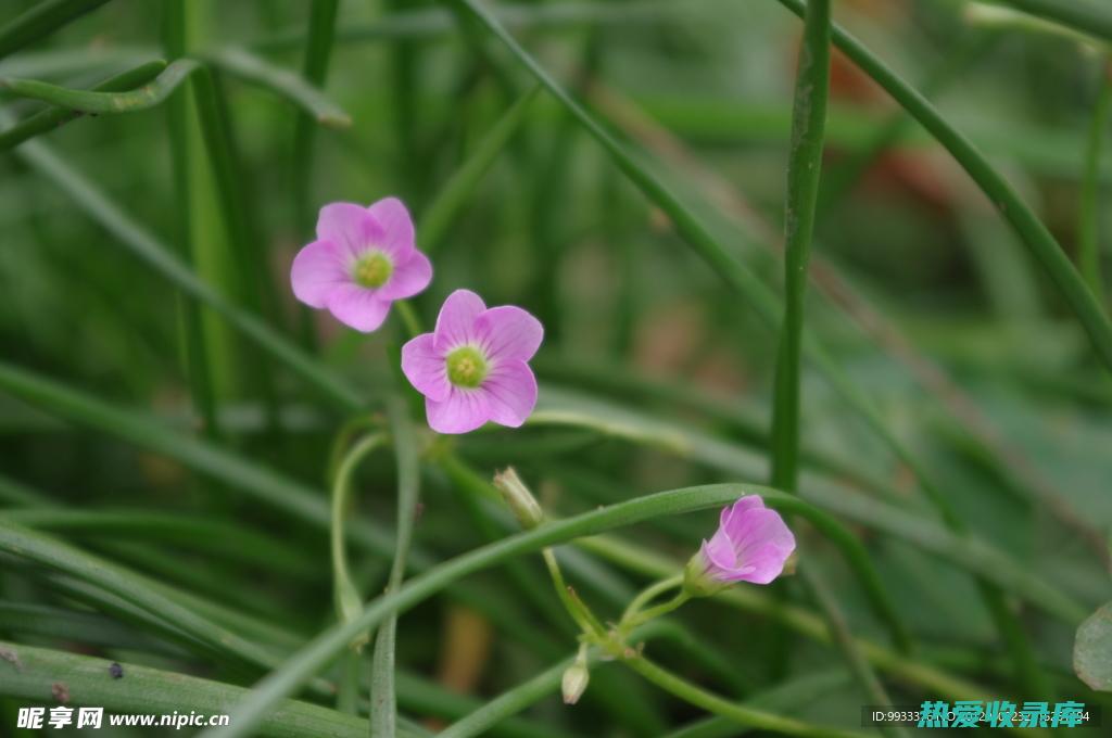
M 525 310 L 488 309 L 475 292 L 456 290 L 436 330 L 401 347 L 401 371 L 425 396 L 428 425 L 437 432 L 466 433 L 487 420 L 517 428 L 537 403 L 537 380 L 526 362 L 544 335 Z

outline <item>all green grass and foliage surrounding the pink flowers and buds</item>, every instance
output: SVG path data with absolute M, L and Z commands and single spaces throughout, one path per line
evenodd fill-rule
M 0 732 L 59 681 L 229 711 L 225 736 L 1108 707 L 1101 622 L 1085 681 L 1073 648 L 1110 599 L 1112 11 L 1002 4 L 1029 14 L 834 3 L 812 150 L 793 118 L 825 80 L 796 57 L 826 27 L 801 42 L 797 0 L 7 3 Z M 810 286 L 785 287 L 784 213 L 812 208 L 790 160 L 822 163 Z M 396 377 L 411 326 L 294 302 L 317 209 L 387 195 L 436 267 L 415 321 L 467 287 L 544 322 L 524 429 L 434 438 Z M 488 483 L 508 465 L 558 522 L 517 533 Z M 526 555 L 562 543 L 616 620 L 753 491 L 790 513 L 797 576 L 652 624 L 560 704 L 576 634 Z M 368 604 L 346 629 L 345 587 Z

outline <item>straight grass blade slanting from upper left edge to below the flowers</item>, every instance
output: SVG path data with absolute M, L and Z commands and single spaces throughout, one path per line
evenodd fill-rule
M 357 410 L 363 400 L 332 375 L 257 316 L 237 307 L 200 280 L 169 249 L 109 200 L 88 178 L 38 141 L 28 141 L 16 154 L 64 191 L 90 218 L 99 222 L 132 253 L 188 295 L 224 316 L 229 323 L 345 410 Z

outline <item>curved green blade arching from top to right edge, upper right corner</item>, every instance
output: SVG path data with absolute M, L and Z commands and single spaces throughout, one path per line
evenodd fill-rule
M 806 10 L 803 0 L 778 0 L 778 2 L 800 17 L 803 17 Z M 1024 0 L 1024 2 L 1037 2 L 1037 0 Z M 855 66 L 884 88 L 976 182 L 1031 255 L 1042 265 L 1043 270 L 1089 333 L 1098 357 L 1105 367 L 1112 370 L 1112 322 L 1109 322 L 1108 315 L 1096 302 L 1093 293 L 1085 287 L 1078 270 L 1070 263 L 1065 251 L 1046 226 L 1039 220 L 1039 217 L 1023 202 L 1012 186 L 1007 183 L 1007 180 L 989 163 L 989 160 L 977 148 L 964 134 L 947 123 L 926 98 L 904 82 L 898 74 L 838 26 L 834 26 L 833 38 L 834 44 Z

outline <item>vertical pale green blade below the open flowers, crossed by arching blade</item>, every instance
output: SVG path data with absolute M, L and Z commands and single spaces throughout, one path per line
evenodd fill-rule
M 401 398 L 390 400 L 390 435 L 398 465 L 397 545 L 386 592 L 395 592 L 406 574 L 406 559 L 413 542 L 414 521 L 420 495 L 420 449 L 408 406 Z M 397 735 L 397 697 L 395 695 L 395 641 L 398 617 L 389 616 L 375 636 L 375 652 L 370 670 L 370 735 L 394 738 Z

